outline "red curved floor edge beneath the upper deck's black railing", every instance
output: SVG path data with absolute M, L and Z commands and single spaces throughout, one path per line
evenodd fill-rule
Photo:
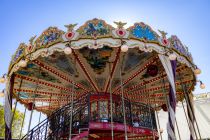
M 128 139 L 158 139 L 158 132 L 142 127 L 127 126 Z M 113 123 L 113 137 L 118 140 L 125 139 L 124 124 Z M 79 130 L 79 134 L 73 134 L 72 140 L 111 140 L 112 139 L 112 126 L 108 122 L 90 122 L 89 128 Z

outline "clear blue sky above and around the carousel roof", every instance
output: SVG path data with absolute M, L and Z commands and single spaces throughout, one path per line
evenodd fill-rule
M 69 23 L 83 24 L 101 18 L 108 23 L 128 25 L 145 22 L 154 30 L 177 35 L 189 47 L 200 67 L 206 89 L 210 91 L 210 1 L 208 0 L 1 0 L 0 1 L 0 75 L 7 73 L 11 56 L 19 43 L 40 35 L 49 26 L 65 30 Z M 4 85 L 0 85 L 0 90 Z M 3 99 L 0 99 L 0 103 Z

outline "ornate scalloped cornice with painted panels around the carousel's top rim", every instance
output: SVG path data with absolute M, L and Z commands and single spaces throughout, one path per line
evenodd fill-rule
M 170 50 L 177 56 L 180 63 L 186 64 L 192 70 L 195 69 L 188 48 L 183 45 L 177 36 L 171 36 L 167 39 L 164 31 L 161 31 L 161 35 L 158 35 L 143 22 L 135 23 L 127 29 L 123 27 L 125 23 L 115 23 L 119 24 L 117 28 L 107 24 L 104 20 L 93 19 L 87 21 L 78 29 L 74 29 L 77 24 L 66 25 L 66 32 L 57 27 L 49 27 L 40 36 L 33 36 L 28 44 L 20 44 L 12 57 L 8 75 L 20 68 L 18 62 L 21 59 L 28 62 L 37 59 L 39 56 L 47 57 L 56 51 L 63 52 L 67 44 L 72 49 L 83 47 L 98 49 L 103 46 L 120 47 L 122 42 L 126 42 L 129 48 L 139 48 L 144 52 L 155 51 L 159 54 L 168 55 Z

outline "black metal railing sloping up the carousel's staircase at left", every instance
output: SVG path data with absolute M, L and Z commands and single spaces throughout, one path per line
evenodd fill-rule
M 73 108 L 73 121 L 72 121 L 72 131 L 75 133 L 77 129 L 81 127 L 87 127 L 87 122 L 82 121 L 80 125 L 76 125 L 76 116 L 83 110 L 87 109 L 88 96 L 83 96 L 80 99 L 74 101 Z M 35 126 L 29 131 L 28 134 L 22 137 L 22 140 L 46 140 L 46 139 L 66 139 L 69 137 L 69 123 L 70 123 L 70 112 L 71 103 L 59 108 L 53 112 L 49 117 Z M 86 115 L 86 118 L 88 115 Z M 83 119 L 84 120 L 84 119 Z

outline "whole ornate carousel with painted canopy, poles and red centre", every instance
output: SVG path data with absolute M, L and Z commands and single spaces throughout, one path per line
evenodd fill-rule
M 188 48 L 143 22 L 114 23 L 49 27 L 19 45 L 1 78 L 7 81 L 5 139 L 11 139 L 12 108 L 20 103 L 30 110 L 24 140 L 162 139 L 161 109 L 168 112 L 168 139 L 175 140 L 176 103 L 183 101 L 189 138 L 200 138 L 192 91 L 197 82 L 205 85 Z M 32 128 L 34 110 L 47 118 Z

